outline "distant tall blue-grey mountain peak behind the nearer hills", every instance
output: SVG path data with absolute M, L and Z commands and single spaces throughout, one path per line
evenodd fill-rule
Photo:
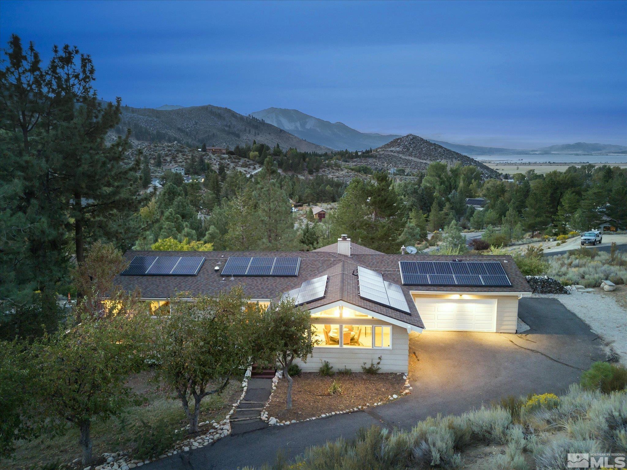
M 297 137 L 336 150 L 376 149 L 399 135 L 359 132 L 341 122 L 329 122 L 295 109 L 268 108 L 251 113 Z

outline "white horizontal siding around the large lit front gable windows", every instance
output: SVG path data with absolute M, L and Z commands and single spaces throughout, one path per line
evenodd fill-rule
M 324 361 L 329 361 L 334 370 L 348 367 L 353 372 L 361 372 L 361 367 L 371 360 L 377 363 L 381 356 L 380 372 L 408 372 L 409 364 L 409 334 L 406 328 L 390 325 L 386 321 L 356 320 L 351 318 L 312 318 L 312 323 L 334 325 L 389 325 L 392 326 L 392 348 L 355 348 L 355 347 L 315 347 L 314 353 L 307 358 L 307 362 L 297 362 L 305 372 L 316 372 Z

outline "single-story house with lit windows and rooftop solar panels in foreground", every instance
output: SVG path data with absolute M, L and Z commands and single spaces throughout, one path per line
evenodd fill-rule
M 129 268 L 114 283 L 139 289 L 150 310 L 168 308 L 177 293 L 216 296 L 238 285 L 265 305 L 294 298 L 310 311 L 317 341 L 299 363 L 306 371 L 324 361 L 358 371 L 381 357 L 381 372 L 408 372 L 409 333 L 515 333 L 518 301 L 531 293 L 511 256 L 383 254 L 347 236 L 309 252 L 128 251 L 125 258 Z

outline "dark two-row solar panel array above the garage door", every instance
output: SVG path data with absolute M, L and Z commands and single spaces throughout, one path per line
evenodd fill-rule
M 512 285 L 498 261 L 399 261 L 404 285 L 492 286 Z

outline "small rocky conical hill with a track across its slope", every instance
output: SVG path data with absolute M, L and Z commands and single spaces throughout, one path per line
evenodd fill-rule
M 351 160 L 352 165 L 368 165 L 377 170 L 404 168 L 406 170 L 425 170 L 431 162 L 447 162 L 455 165 L 475 165 L 487 178 L 498 178 L 500 174 L 467 155 L 445 149 L 418 135 L 408 134 L 395 138 L 392 142 L 374 150 L 371 157 Z

